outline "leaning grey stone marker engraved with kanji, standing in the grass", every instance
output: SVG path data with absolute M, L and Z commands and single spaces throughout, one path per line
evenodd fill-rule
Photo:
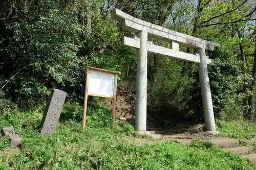
M 66 96 L 64 91 L 52 89 L 40 126 L 43 135 L 54 134 Z

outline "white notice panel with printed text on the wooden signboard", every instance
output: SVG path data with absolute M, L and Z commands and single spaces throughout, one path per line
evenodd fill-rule
M 97 70 L 90 70 L 88 86 L 88 95 L 98 94 L 105 96 L 113 96 L 115 86 L 115 75 Z

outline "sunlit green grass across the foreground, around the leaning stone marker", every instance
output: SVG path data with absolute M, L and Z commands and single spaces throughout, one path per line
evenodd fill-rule
M 130 142 L 133 127 L 117 123 L 111 112 L 88 109 L 87 129 L 82 132 L 82 107 L 66 104 L 52 137 L 37 131 L 42 111 L 5 108 L 0 127 L 12 125 L 23 139 L 20 152 L 0 136 L 0 169 L 253 169 L 239 155 L 225 153 L 210 143 L 186 146 L 174 141 L 136 145 Z

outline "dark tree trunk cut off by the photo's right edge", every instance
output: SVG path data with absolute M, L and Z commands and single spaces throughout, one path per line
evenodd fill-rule
M 252 84 L 251 84 L 251 87 L 250 87 L 251 90 L 252 90 L 252 94 L 249 96 L 248 103 L 249 103 L 250 109 L 249 109 L 248 114 L 247 114 L 249 119 L 253 119 L 253 116 L 254 116 L 254 98 L 255 98 L 254 87 L 256 86 L 256 46 L 254 47 L 253 56 L 254 56 L 253 74 L 252 74 L 253 81 L 252 81 Z

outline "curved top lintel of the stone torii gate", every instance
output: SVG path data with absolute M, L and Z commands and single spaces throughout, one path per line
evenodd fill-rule
M 162 39 L 165 41 L 176 41 L 180 45 L 189 48 L 205 48 L 205 50 L 213 51 L 218 44 L 211 41 L 206 41 L 200 38 L 175 32 L 161 26 L 154 25 L 153 23 L 135 18 L 129 14 L 122 12 L 115 8 L 111 10 L 111 17 L 122 22 L 123 29 L 131 32 L 138 33 L 145 31 L 149 36 Z

